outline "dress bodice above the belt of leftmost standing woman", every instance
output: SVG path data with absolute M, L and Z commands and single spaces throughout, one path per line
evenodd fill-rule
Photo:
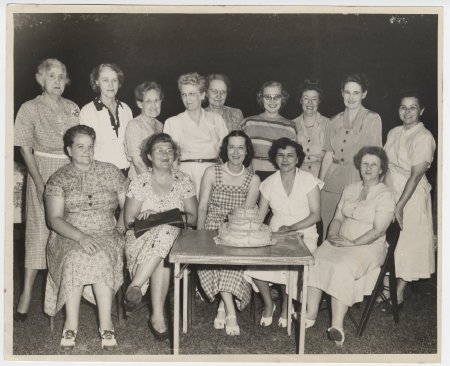
M 63 155 L 64 133 L 79 124 L 80 109 L 68 99 L 61 97 L 60 102 L 61 114 L 42 95 L 22 104 L 14 125 L 14 145 Z

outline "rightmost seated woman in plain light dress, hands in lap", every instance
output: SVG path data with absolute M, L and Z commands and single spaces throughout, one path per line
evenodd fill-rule
M 362 182 L 345 187 L 330 224 L 328 239 L 314 253 L 306 306 L 306 327 L 312 327 L 322 297 L 331 295 L 329 337 L 344 343 L 344 317 L 356 302 L 370 295 L 386 256 L 385 233 L 394 217 L 394 195 L 382 183 L 388 167 L 380 147 L 365 146 L 353 158 Z

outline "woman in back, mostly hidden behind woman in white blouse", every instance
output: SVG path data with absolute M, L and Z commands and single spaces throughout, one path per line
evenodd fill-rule
M 217 113 L 221 116 L 228 131 L 239 130 L 244 119 L 242 111 L 225 105 L 227 96 L 231 91 L 231 82 L 224 74 L 210 74 L 206 77 L 206 97 L 209 105 L 205 111 Z

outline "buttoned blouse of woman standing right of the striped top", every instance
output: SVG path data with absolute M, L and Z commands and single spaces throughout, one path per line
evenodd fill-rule
M 297 142 L 302 145 L 303 152 L 305 153 L 305 160 L 300 169 L 309 171 L 317 177 L 324 155 L 323 142 L 325 139 L 325 129 L 330 120 L 317 112 L 316 121 L 310 130 L 305 125 L 303 113 L 293 121 L 297 126 Z

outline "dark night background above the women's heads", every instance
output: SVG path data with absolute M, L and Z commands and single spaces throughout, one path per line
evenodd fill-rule
M 244 116 L 260 112 L 259 86 L 279 80 L 291 94 L 282 114 L 294 118 L 304 78 L 321 81 L 320 111 L 331 117 L 344 109 L 340 80 L 357 71 L 369 78 L 364 105 L 381 115 L 383 142 L 401 123 L 397 94 L 404 88 L 423 94 L 422 121 L 437 141 L 437 25 L 437 15 L 402 14 L 15 14 L 14 110 L 40 93 L 34 74 L 48 57 L 67 66 L 72 82 L 64 97 L 80 107 L 94 96 L 89 73 L 97 64 L 122 68 L 119 99 L 135 116 L 134 88 L 157 81 L 166 95 L 161 121 L 184 110 L 177 89 L 183 73 L 227 74 L 227 105 Z M 436 162 L 427 175 L 434 185 Z

